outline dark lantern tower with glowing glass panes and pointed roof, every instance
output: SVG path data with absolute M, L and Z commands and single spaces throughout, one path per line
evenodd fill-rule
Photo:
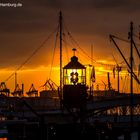
M 78 62 L 78 57 L 71 57 L 71 61 L 63 67 L 63 100 L 70 108 L 81 108 L 86 102 L 86 67 Z

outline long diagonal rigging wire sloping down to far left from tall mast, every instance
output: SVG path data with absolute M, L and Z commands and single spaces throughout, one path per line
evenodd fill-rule
M 6 80 L 8 81 L 17 71 L 19 71 L 44 45 L 45 43 L 51 38 L 51 36 L 56 32 L 56 29 L 41 43 L 39 47 L 37 47 L 32 54 L 13 72 Z

